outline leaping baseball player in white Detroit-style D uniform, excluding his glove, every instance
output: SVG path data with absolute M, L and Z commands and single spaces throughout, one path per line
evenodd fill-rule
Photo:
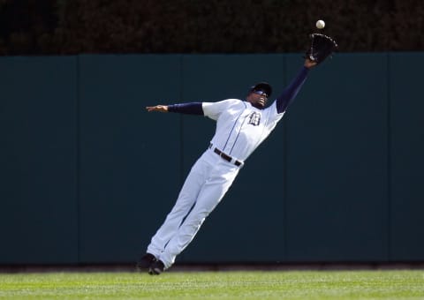
M 266 107 L 272 89 L 266 82 L 252 86 L 246 101 L 191 102 L 147 107 L 148 111 L 208 116 L 216 121 L 216 132 L 207 150 L 186 177 L 177 202 L 137 263 L 139 270 L 161 274 L 193 240 L 201 224 L 223 199 L 247 157 L 269 136 L 284 116 L 310 68 L 316 62 L 306 58 L 304 65 L 283 93 Z

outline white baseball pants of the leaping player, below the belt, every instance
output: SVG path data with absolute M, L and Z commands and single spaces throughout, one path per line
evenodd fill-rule
M 165 269 L 190 244 L 238 174 L 239 167 L 210 149 L 196 161 L 177 202 L 148 245 L 148 253 L 162 260 Z

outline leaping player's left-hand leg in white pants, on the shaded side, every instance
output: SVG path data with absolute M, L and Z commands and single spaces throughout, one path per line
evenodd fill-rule
M 175 235 L 181 222 L 193 207 L 201 191 L 201 186 L 206 181 L 205 176 L 208 174 L 208 168 L 210 168 L 210 165 L 201 159 L 193 165 L 170 214 L 167 215 L 163 225 L 152 237 L 151 243 L 148 245 L 148 253 L 153 254 L 156 258 L 161 255 L 165 245 Z

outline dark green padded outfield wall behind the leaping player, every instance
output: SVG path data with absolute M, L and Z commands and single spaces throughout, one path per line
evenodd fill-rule
M 340 53 L 178 262 L 424 260 L 424 53 Z M 132 263 L 215 123 L 156 103 L 275 95 L 301 54 L 0 57 L 0 264 Z

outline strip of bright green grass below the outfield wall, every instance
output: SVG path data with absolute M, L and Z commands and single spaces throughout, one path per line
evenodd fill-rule
M 3 299 L 424 299 L 424 271 L 0 274 Z

